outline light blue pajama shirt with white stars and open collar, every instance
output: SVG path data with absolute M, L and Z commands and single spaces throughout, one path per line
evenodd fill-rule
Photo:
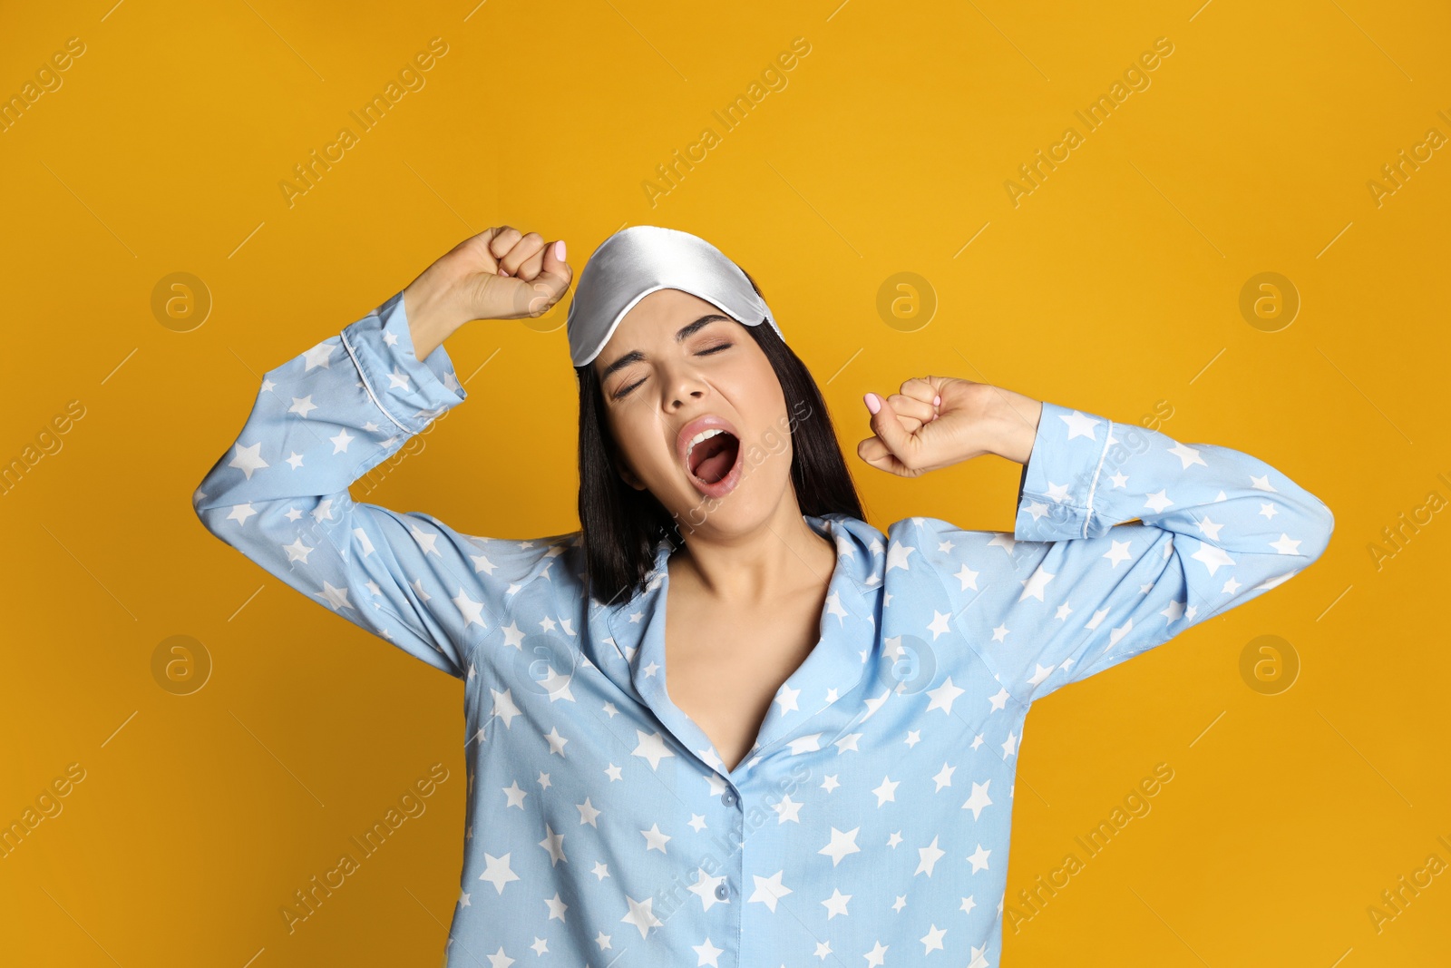
M 194 495 L 281 582 L 463 679 L 454 967 L 995 967 L 1029 704 L 1284 582 L 1335 524 L 1255 457 L 1045 402 L 1013 533 L 805 517 L 837 547 L 821 637 L 727 771 L 666 694 L 667 541 L 602 604 L 579 531 L 350 496 L 466 398 L 395 295 L 270 370 Z

